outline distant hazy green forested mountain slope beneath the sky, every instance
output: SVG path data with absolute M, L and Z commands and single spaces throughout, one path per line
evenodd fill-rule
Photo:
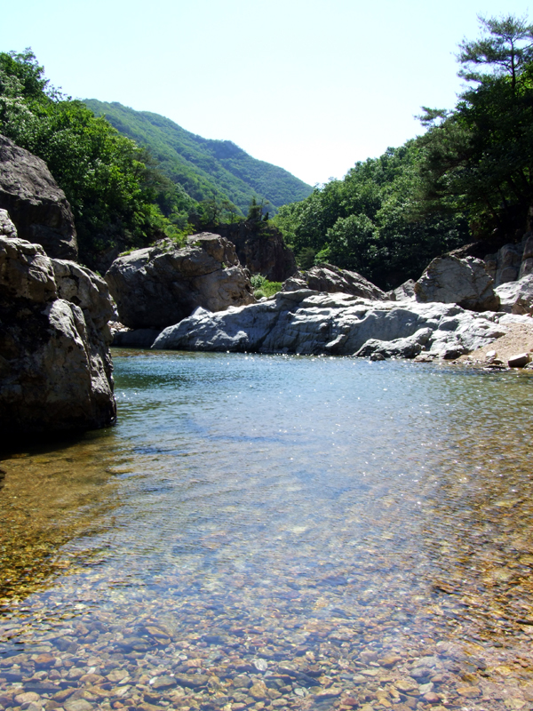
M 230 140 L 209 140 L 149 111 L 134 111 L 117 102 L 84 102 L 123 135 L 150 149 L 159 168 L 195 200 L 227 198 L 246 214 L 252 196 L 270 203 L 271 213 L 283 204 L 303 200 L 311 186 L 275 165 L 256 160 Z

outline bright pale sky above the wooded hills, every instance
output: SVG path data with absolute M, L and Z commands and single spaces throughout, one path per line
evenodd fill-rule
M 457 44 L 508 0 L 0 0 L 0 51 L 31 47 L 56 87 L 168 116 L 310 185 L 453 108 Z M 530 17 L 533 22 L 533 15 Z

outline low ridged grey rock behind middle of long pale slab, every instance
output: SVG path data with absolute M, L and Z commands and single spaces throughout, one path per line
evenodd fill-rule
M 344 293 L 361 296 L 363 299 L 386 300 L 386 293 L 364 276 L 334 267 L 332 264 L 319 264 L 306 272 L 298 273 L 283 284 L 284 292 L 306 288 L 314 292 Z

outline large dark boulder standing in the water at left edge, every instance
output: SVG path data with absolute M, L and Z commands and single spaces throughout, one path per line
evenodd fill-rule
M 115 422 L 107 284 L 0 234 L 0 427 L 25 434 Z

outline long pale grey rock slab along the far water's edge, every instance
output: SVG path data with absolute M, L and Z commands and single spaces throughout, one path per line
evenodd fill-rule
M 415 337 L 402 348 L 418 343 L 434 357 L 457 357 L 503 335 L 500 318 L 529 323 L 529 316 L 474 314 L 455 304 L 395 304 L 300 290 L 218 314 L 197 309 L 164 329 L 152 348 L 353 356 L 369 339 L 392 349 L 398 344 L 391 341 Z

